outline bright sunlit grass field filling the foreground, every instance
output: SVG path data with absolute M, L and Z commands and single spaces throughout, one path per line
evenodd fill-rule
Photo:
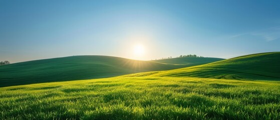
M 0 119 L 280 119 L 280 82 L 149 76 L 2 87 Z

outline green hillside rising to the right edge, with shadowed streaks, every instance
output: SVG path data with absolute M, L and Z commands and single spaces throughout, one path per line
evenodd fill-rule
M 177 76 L 223 79 L 280 80 L 280 52 L 244 55 L 208 64 L 125 76 Z

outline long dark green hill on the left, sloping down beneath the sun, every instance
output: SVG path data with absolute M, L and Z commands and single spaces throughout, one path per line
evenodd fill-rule
M 176 59 L 176 58 L 175 58 Z M 216 59 L 219 60 L 219 59 Z M 185 61 L 187 64 L 175 65 L 153 61 L 132 60 L 113 56 L 69 56 L 34 60 L 0 66 L 0 87 L 112 77 L 143 71 L 168 70 L 202 64 L 212 60 Z

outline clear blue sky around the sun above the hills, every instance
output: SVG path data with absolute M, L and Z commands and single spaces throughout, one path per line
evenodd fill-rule
M 0 61 L 268 51 L 280 51 L 280 0 L 0 0 Z

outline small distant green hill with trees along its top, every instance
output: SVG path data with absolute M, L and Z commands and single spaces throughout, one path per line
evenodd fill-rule
M 188 64 L 188 65 L 198 65 L 205 64 L 214 61 L 224 60 L 223 58 L 214 58 L 214 57 L 176 57 L 168 59 L 159 59 L 151 60 L 159 63 L 168 63 L 168 64 Z

